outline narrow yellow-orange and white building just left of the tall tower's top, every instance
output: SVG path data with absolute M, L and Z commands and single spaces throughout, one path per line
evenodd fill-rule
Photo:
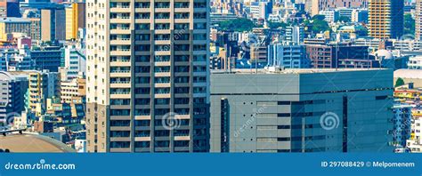
M 66 40 L 77 39 L 78 28 L 85 28 L 85 3 L 72 3 L 66 8 Z

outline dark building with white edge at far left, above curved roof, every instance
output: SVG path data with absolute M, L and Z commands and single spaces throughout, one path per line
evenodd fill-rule
M 6 118 L 20 115 L 25 109 L 24 97 L 27 90 L 27 75 L 0 71 L 0 123 L 8 124 L 11 119 Z

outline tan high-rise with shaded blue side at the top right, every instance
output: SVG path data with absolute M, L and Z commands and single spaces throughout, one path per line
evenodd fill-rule
M 400 38 L 404 28 L 403 0 L 369 0 L 369 36 Z

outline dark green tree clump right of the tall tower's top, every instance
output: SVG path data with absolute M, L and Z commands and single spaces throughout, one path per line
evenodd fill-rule
M 224 20 L 218 23 L 220 28 L 223 30 L 234 30 L 234 31 L 250 31 L 255 28 L 254 21 L 245 18 L 239 18 L 234 20 Z

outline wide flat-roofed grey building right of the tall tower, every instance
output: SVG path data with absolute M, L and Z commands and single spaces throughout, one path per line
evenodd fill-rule
M 392 77 L 391 69 L 215 71 L 211 152 L 393 152 Z

